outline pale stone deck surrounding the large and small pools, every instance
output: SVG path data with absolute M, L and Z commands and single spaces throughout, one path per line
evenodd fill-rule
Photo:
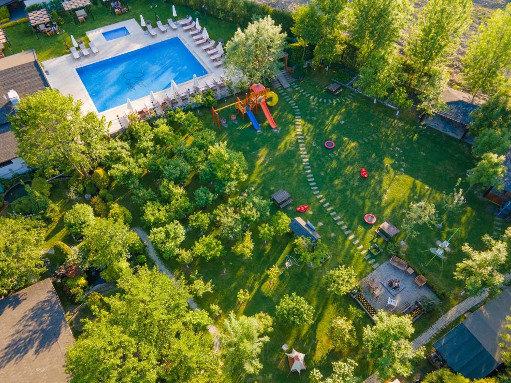
M 164 22 L 162 20 L 162 22 Z M 177 25 L 177 21 L 176 25 Z M 105 27 L 101 27 L 92 31 L 88 31 L 87 36 L 99 50 L 98 54 L 93 54 L 89 49 L 88 56 L 80 56 L 79 59 L 74 59 L 70 53 L 68 55 L 56 57 L 44 61 L 43 67 L 47 71 L 48 81 L 52 88 L 58 89 L 63 94 L 71 94 L 75 100 L 80 99 L 83 102 L 82 110 L 84 113 L 93 111 L 98 113 L 94 102 L 91 98 L 85 86 L 83 85 L 76 68 L 101 60 L 108 59 L 110 57 L 119 56 L 126 52 L 131 52 L 137 49 L 141 49 L 144 46 L 155 44 L 160 41 L 165 41 L 173 37 L 178 37 L 183 44 L 189 49 L 190 52 L 195 56 L 199 63 L 207 70 L 207 75 L 199 77 L 199 84 L 203 86 L 204 80 L 212 80 L 214 77 L 217 79 L 223 76 L 224 71 L 222 67 L 215 67 L 210 57 L 204 52 L 200 46 L 197 46 L 190 34 L 187 31 L 183 31 L 183 27 L 178 26 L 176 30 L 172 30 L 167 24 L 167 32 L 160 32 L 156 26 L 156 22 L 151 20 L 151 25 L 155 29 L 156 36 L 151 37 L 149 33 L 144 31 L 135 19 L 129 19 L 121 22 L 117 22 Z M 130 33 L 129 36 L 117 38 L 114 40 L 106 41 L 102 33 L 126 27 Z M 177 84 L 179 91 L 193 88 L 193 80 Z M 165 93 L 170 89 L 164 89 L 159 92 L 154 92 L 156 99 L 162 101 L 165 98 Z M 118 117 L 126 114 L 126 100 L 120 100 L 123 104 L 108 109 L 102 113 L 98 113 L 100 116 L 105 116 L 107 122 L 112 122 L 110 127 L 110 134 L 115 133 L 121 127 L 118 124 Z M 131 100 L 134 107 L 142 109 L 144 104 L 150 105 L 151 98 L 148 94 L 146 97 L 137 100 Z

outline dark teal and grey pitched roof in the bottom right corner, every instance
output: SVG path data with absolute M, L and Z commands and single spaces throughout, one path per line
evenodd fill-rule
M 511 315 L 511 289 L 506 288 L 433 344 L 447 365 L 469 379 L 484 378 L 501 363 L 506 316 Z

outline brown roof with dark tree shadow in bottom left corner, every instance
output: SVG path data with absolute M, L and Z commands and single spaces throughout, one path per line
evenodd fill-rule
M 73 334 L 51 280 L 0 300 L 0 381 L 65 383 Z

